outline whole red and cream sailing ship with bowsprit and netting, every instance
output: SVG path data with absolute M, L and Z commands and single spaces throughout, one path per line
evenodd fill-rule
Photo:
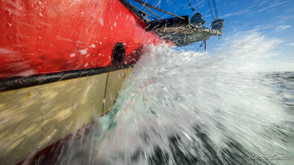
M 0 164 L 36 164 L 109 112 L 145 46 L 222 35 L 220 18 L 130 1 L 0 1 Z

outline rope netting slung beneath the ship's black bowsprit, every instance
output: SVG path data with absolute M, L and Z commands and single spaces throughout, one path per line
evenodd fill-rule
M 211 36 L 221 36 L 223 32 L 209 28 L 197 28 L 191 25 L 154 30 L 161 38 L 174 43 L 176 46 L 187 46 L 198 41 L 206 41 Z

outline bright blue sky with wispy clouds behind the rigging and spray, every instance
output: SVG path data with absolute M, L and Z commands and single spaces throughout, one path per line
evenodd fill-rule
M 137 2 L 128 1 L 145 10 Z M 193 15 L 188 0 L 147 0 L 146 2 L 180 16 Z M 209 0 L 209 2 L 212 7 L 213 1 Z M 201 12 L 203 19 L 206 20 L 205 26 L 211 28 L 210 23 L 213 20 L 207 0 L 190 0 L 190 3 L 194 9 L 199 9 Z M 223 37 L 237 29 L 238 31 L 257 30 L 268 38 L 279 38 L 283 41 L 278 47 L 278 51 L 283 53 L 282 60 L 294 63 L 294 0 L 216 0 L 216 6 L 218 16 L 225 19 Z M 153 11 L 163 18 L 173 17 Z M 213 15 L 216 17 L 214 12 Z M 213 40 L 214 37 L 211 37 L 208 41 L 208 49 L 215 47 L 216 43 Z M 222 42 L 221 39 L 218 42 Z M 197 50 L 199 45 L 200 43 L 197 43 L 184 49 Z

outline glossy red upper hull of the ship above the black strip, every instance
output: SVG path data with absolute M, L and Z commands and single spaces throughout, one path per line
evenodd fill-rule
M 126 47 L 122 64 L 134 63 L 144 45 L 161 42 L 119 0 L 7 0 L 0 6 L 0 78 L 112 66 L 117 42 Z

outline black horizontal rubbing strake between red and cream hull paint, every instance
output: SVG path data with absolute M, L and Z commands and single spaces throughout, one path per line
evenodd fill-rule
M 126 65 L 108 66 L 104 68 L 69 70 L 69 71 L 63 71 L 59 73 L 50 73 L 45 75 L 33 75 L 26 78 L 18 77 L 18 78 L 0 79 L 0 92 L 21 89 L 25 87 L 32 87 L 36 85 L 54 83 L 61 80 L 69 80 L 74 78 L 99 75 L 102 73 L 108 73 L 108 72 L 113 72 L 116 70 L 132 68 L 132 67 L 133 67 L 133 64 L 126 64 Z

